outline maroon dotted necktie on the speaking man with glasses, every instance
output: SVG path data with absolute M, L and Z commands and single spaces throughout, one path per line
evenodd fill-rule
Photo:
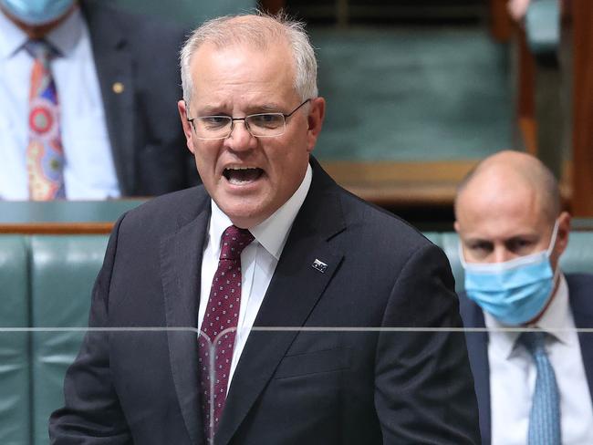
M 223 413 L 233 361 L 234 337 L 241 306 L 241 252 L 252 241 L 254 235 L 246 229 L 231 225 L 224 231 L 218 269 L 203 317 L 201 331 L 207 337 L 200 334 L 198 353 L 203 425 L 209 443 Z M 221 332 L 223 335 L 219 336 Z

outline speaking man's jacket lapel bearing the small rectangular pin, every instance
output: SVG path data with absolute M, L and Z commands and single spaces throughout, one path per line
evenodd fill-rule
M 257 318 L 234 373 L 216 433 L 216 444 L 228 443 L 249 409 L 272 378 L 276 367 L 304 326 L 324 289 L 338 269 L 343 254 L 328 239 L 345 227 L 338 197 L 326 194 L 328 176 L 315 162 L 311 189 L 296 216 L 285 248 L 276 265 Z M 318 209 L 325 209 L 321 218 Z M 321 272 L 313 267 L 318 260 L 327 264 Z M 323 267 L 321 267 L 323 268 Z M 293 327 L 295 330 L 269 332 L 265 327 Z

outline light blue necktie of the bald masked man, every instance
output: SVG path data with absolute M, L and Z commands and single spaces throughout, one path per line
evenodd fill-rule
M 529 414 L 528 445 L 561 445 L 560 397 L 554 368 L 544 347 L 545 332 L 524 332 L 519 341 L 536 363 L 536 388 Z

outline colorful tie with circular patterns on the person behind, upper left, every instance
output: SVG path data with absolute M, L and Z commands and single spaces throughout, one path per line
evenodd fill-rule
M 45 40 L 29 40 L 25 48 L 35 59 L 29 92 L 29 143 L 26 149 L 29 198 L 34 201 L 65 198 L 57 91 L 49 69 L 49 59 L 55 55 L 55 50 Z

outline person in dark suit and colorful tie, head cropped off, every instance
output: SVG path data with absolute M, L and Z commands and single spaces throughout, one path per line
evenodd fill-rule
M 29 82 L 26 39 L 44 40 L 57 53 L 50 70 L 61 109 L 67 198 L 158 195 L 199 181 L 191 156 L 182 150 L 182 127 L 171 109 L 182 94 L 175 80 L 181 29 L 96 0 L 2 0 L 0 11 L 8 19 L 2 22 L 5 38 L 15 47 L 5 70 L 5 76 L 12 76 L 6 85 L 14 91 L 7 103 L 19 103 L 26 112 L 26 97 L 18 93 L 27 92 Z M 72 73 L 81 74 L 72 78 Z M 15 177 L 0 181 L 0 198 L 26 199 L 27 123 L 20 109 L 11 112 L 3 150 L 12 151 L 3 158 L 11 171 L 6 175 Z

